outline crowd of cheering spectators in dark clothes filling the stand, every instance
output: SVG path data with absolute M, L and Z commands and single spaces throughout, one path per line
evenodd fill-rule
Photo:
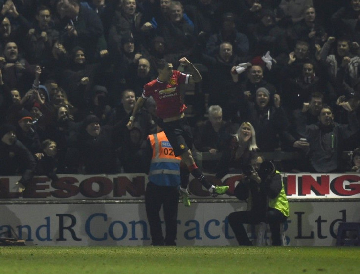
M 0 5 L 0 166 L 13 165 L 0 175 L 23 174 L 23 166 L 52 179 L 147 172 L 141 159 L 156 133 L 154 102 L 147 100 L 132 130 L 126 123 L 143 85 L 156 78 L 157 61 L 186 71 L 183 56 L 206 67 L 200 88 L 208 101 L 197 97 L 196 106 L 210 106 L 209 121 L 197 112 L 192 125 L 198 151 L 236 155 L 231 134 L 239 137 L 245 125 L 261 152 L 306 155 L 309 165 L 295 161 L 287 171 L 359 170 L 340 157 L 360 146 L 359 0 Z M 13 135 L 29 163 L 9 161 Z

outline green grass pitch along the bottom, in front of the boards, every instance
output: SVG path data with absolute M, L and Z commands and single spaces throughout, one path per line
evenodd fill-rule
M 359 274 L 360 247 L 0 247 L 0 274 Z

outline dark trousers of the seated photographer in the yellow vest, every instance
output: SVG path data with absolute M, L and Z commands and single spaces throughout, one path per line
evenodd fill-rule
M 272 245 L 279 246 L 281 245 L 280 224 L 285 222 L 287 217 L 274 208 L 269 208 L 267 215 L 266 222 L 270 227 Z M 238 211 L 231 213 L 228 216 L 228 220 L 239 245 L 249 246 L 252 245 L 252 243 L 248 238 L 248 233 L 243 224 L 260 224 L 260 222 L 264 221 L 264 218 L 254 211 Z

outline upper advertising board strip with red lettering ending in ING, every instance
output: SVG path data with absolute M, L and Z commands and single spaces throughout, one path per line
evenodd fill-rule
M 360 174 L 282 174 L 286 194 L 299 199 L 360 199 Z M 221 180 L 206 175 L 214 185 L 228 185 L 231 194 L 242 175 L 229 174 Z M 0 177 L 0 201 L 12 199 L 30 200 L 78 200 L 78 199 L 143 199 L 145 174 L 116 175 L 61 175 L 51 182 L 47 177 L 35 177 L 23 194 L 17 192 L 15 183 L 20 177 Z M 198 180 L 192 178 L 189 190 L 196 199 L 209 198 Z

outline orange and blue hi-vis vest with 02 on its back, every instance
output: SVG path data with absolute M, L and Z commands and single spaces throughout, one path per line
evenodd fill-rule
M 179 186 L 181 158 L 174 155 L 165 133 L 162 131 L 149 135 L 148 138 L 153 148 L 149 181 L 159 186 Z

